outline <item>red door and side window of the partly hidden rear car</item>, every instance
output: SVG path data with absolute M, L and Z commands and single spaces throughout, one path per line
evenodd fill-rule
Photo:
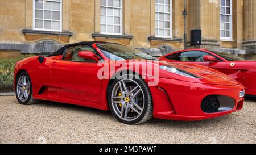
M 204 61 L 203 57 L 207 56 L 207 55 L 210 55 L 210 54 L 207 52 L 203 52 L 203 51 L 186 51 L 186 52 L 182 52 L 180 54 L 180 61 L 181 62 L 191 62 L 193 64 L 208 66 L 210 68 L 216 69 L 216 70 L 226 74 L 226 62 L 220 60 L 217 57 L 216 57 L 216 59 L 219 59 L 220 60 L 219 62 Z M 212 56 L 212 55 L 210 55 L 210 56 Z

